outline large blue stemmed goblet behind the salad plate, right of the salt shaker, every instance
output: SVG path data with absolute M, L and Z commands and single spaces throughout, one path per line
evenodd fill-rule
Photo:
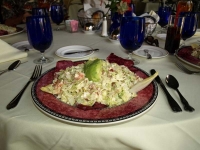
M 138 64 L 135 58 L 132 58 L 132 52 L 141 47 L 145 38 L 145 18 L 144 17 L 122 17 L 120 25 L 119 41 L 121 46 L 128 51 L 128 59 Z

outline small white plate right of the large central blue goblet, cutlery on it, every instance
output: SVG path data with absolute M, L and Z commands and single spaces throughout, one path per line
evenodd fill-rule
M 169 54 L 168 51 L 160 47 L 148 46 L 148 45 L 142 45 L 139 49 L 133 51 L 133 53 L 137 56 L 147 57 L 147 55 L 144 52 L 144 49 L 149 50 L 149 54 L 151 54 L 152 58 L 163 58 Z

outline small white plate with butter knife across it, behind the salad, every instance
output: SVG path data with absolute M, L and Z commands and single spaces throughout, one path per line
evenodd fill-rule
M 84 58 L 92 55 L 93 52 L 84 52 L 84 53 L 76 53 L 76 54 L 70 54 L 70 55 L 65 55 L 67 52 L 77 52 L 77 51 L 86 51 L 86 50 L 91 50 L 91 47 L 87 46 L 82 46 L 82 45 L 71 45 L 71 46 L 65 46 L 62 48 L 59 48 L 55 54 L 59 57 L 62 58 L 68 58 L 68 59 L 78 59 L 78 58 Z

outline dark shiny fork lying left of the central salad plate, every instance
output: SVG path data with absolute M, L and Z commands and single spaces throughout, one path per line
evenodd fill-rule
M 11 109 L 11 108 L 14 108 L 15 106 L 17 106 L 17 104 L 19 103 L 19 101 L 20 101 L 24 91 L 28 87 L 28 85 L 32 81 L 35 81 L 41 75 L 41 73 L 42 73 L 42 65 L 36 65 L 29 81 L 26 83 L 26 85 L 23 87 L 23 89 L 17 94 L 17 96 L 15 96 L 15 98 L 12 101 L 10 101 L 10 103 L 6 106 L 7 109 Z

